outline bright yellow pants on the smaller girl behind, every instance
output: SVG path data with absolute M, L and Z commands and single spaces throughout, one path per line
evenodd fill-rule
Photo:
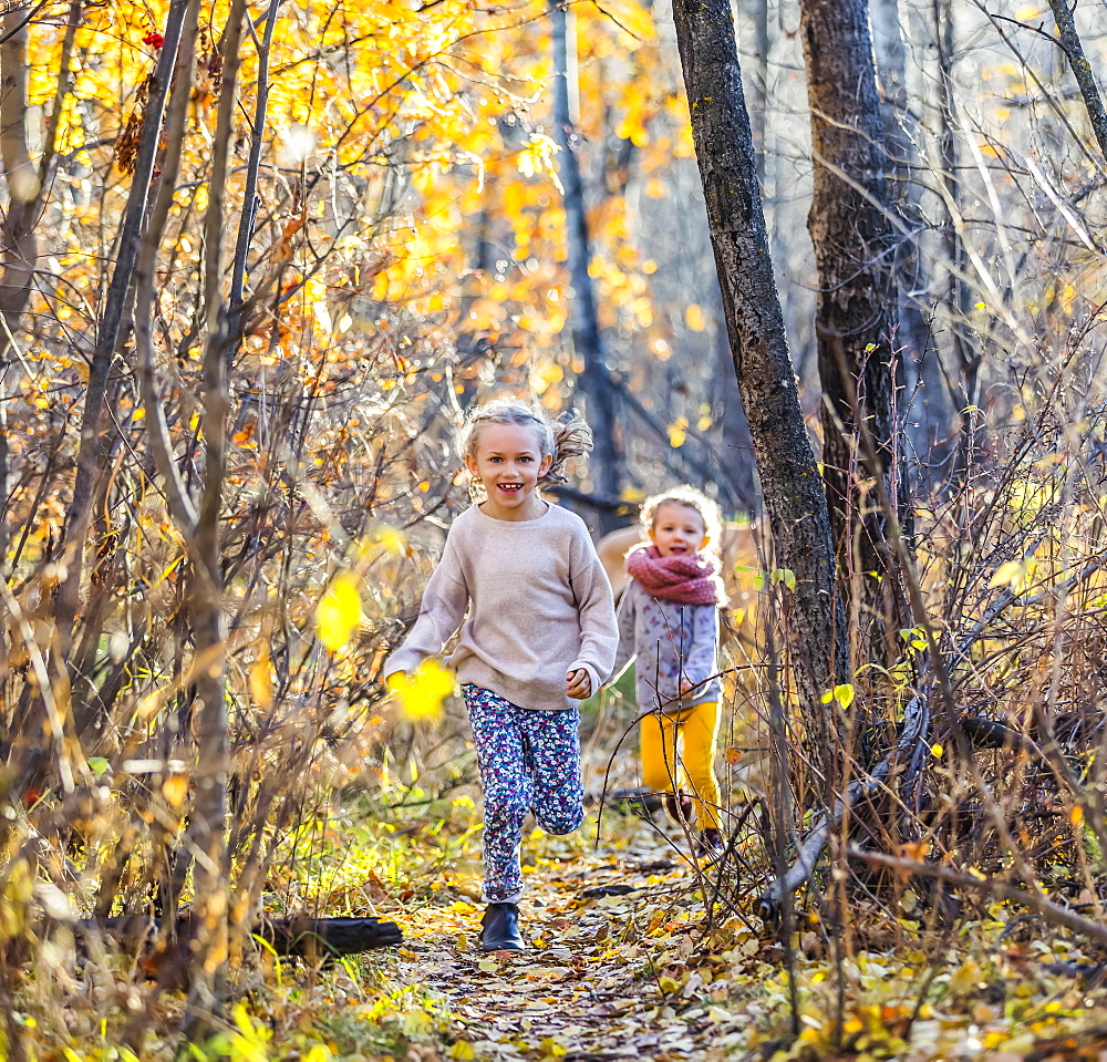
M 654 712 L 642 720 L 642 784 L 673 793 L 691 788 L 701 829 L 718 829 L 715 739 L 718 702 L 693 704 L 681 712 Z M 677 739 L 683 736 L 683 754 Z

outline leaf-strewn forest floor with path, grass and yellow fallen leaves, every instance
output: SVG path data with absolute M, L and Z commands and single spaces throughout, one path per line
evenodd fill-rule
M 903 880 L 852 889 L 837 931 L 801 893 L 786 951 L 752 914 L 756 815 L 736 857 L 703 873 L 672 824 L 625 806 L 598 819 L 596 763 L 584 828 L 525 838 L 530 948 L 483 953 L 472 756 L 441 745 L 436 787 L 377 777 L 320 805 L 267 881 L 270 910 L 374 915 L 403 944 L 333 963 L 248 957 L 227 1029 L 190 1048 L 197 1062 L 1107 1062 L 1107 949 L 983 894 L 951 907 Z M 620 759 L 612 787 L 634 782 Z M 1090 893 L 1074 899 L 1101 916 Z M 28 982 L 29 1062 L 134 1062 L 116 1050 L 127 1011 L 112 1000 L 135 959 L 117 959 L 75 968 L 74 991 Z M 184 1007 L 184 992 L 157 1000 L 138 1062 L 176 1056 Z

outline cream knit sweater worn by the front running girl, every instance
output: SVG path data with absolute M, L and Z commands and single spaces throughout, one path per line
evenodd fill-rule
M 494 519 L 476 505 L 462 513 L 384 677 L 442 652 L 458 627 L 448 663 L 463 683 L 518 708 L 560 711 L 577 704 L 566 672 L 584 668 L 594 693 L 611 673 L 619 630 L 584 522 L 552 504 L 534 520 Z

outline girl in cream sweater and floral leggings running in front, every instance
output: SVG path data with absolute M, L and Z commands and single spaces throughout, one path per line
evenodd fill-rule
M 449 664 L 484 792 L 485 951 L 525 947 L 518 903 L 527 812 L 551 834 L 577 829 L 584 814 L 573 702 L 607 679 L 619 635 L 588 528 L 539 489 L 565 483 L 565 461 L 591 446 L 575 415 L 550 421 L 513 399 L 472 414 L 462 452 L 484 498 L 451 526 L 418 619 L 384 668 L 386 681 L 413 670 L 461 627 Z

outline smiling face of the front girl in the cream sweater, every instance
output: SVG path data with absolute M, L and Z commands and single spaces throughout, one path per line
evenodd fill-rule
M 500 520 L 538 519 L 546 506 L 535 496 L 535 489 L 549 471 L 554 455 L 542 454 L 534 429 L 485 424 L 474 442 L 475 453 L 465 455 L 465 466 L 488 495 L 482 511 Z

